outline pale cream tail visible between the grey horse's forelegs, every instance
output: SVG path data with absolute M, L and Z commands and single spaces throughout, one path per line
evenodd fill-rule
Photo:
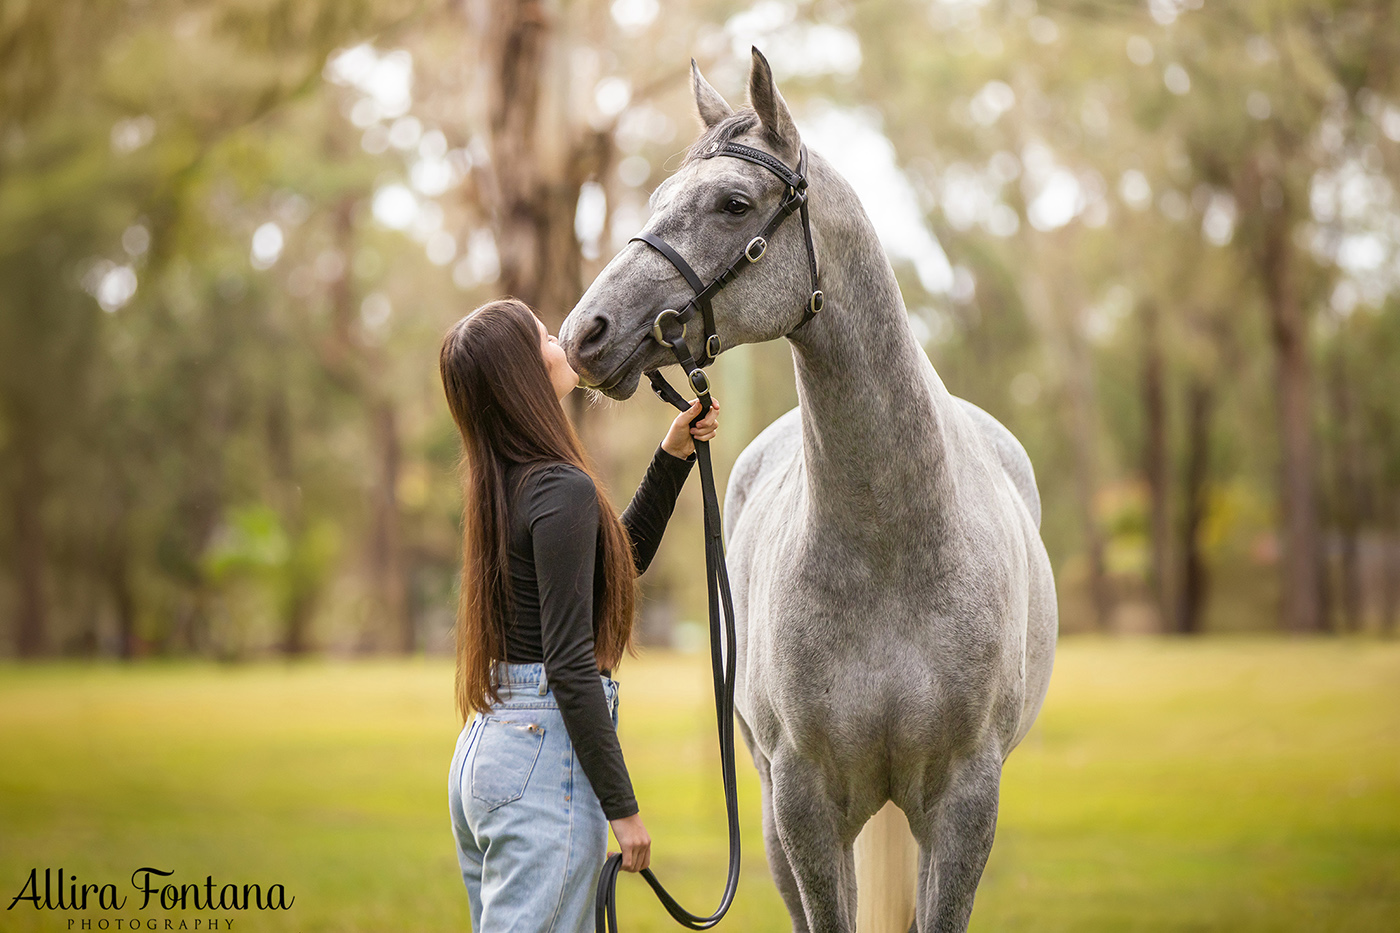
M 886 803 L 855 836 L 855 933 L 909 933 L 918 843 L 904 811 Z

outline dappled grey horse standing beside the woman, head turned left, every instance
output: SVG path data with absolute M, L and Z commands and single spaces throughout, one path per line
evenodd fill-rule
M 757 49 L 750 108 L 693 63 L 692 83 L 706 130 L 652 193 L 645 230 L 707 279 L 783 184 L 704 154 L 734 140 L 795 167 L 801 140 Z M 741 454 L 725 493 L 739 731 L 794 930 L 965 930 L 1001 766 L 1054 657 L 1040 499 L 1011 431 L 938 378 L 855 192 L 808 158 L 825 308 L 788 333 L 811 291 L 795 214 L 714 298 L 725 347 L 787 335 L 798 380 L 798 408 Z M 692 294 L 648 245 L 622 249 L 560 328 L 582 384 L 624 399 L 673 363 L 651 324 Z

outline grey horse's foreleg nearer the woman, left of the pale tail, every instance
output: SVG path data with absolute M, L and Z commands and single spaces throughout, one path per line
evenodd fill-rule
M 819 770 L 794 754 L 771 761 L 773 824 L 811 933 L 855 933 L 855 855 Z M 854 834 L 853 834 L 854 835 Z M 791 911 L 791 902 L 788 909 Z

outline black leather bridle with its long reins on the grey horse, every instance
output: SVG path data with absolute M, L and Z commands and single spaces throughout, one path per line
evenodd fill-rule
M 692 426 L 710 413 L 710 378 L 701 367 L 713 363 L 722 349 L 720 346 L 720 336 L 714 329 L 714 310 L 710 305 L 710 298 L 734 282 L 741 272 L 763 258 L 773 234 L 794 213 L 802 221 L 802 240 L 806 247 L 808 270 L 812 276 L 812 294 L 802 310 L 802 319 L 785 336 L 792 336 L 794 332 L 806 325 L 808 321 L 822 311 L 822 305 L 825 304 L 825 296 L 816 282 L 816 249 L 812 245 L 812 223 L 808 214 L 806 146 L 802 146 L 799 150 L 795 171 L 784 165 L 774 156 L 750 146 L 741 146 L 739 143 L 714 143 L 706 151 L 704 158 L 714 156 L 728 156 L 763 165 L 783 179 L 787 191 L 759 235 L 749 240 L 743 251 L 710 284 L 704 284 L 700 276 L 690 268 L 690 263 L 661 237 L 650 233 L 634 237 L 634 240 L 645 242 L 664 255 L 696 293 L 680 311 L 666 308 L 657 315 L 657 319 L 651 325 L 652 336 L 658 343 L 671 349 L 680 368 L 685 370 L 686 378 L 690 381 L 690 388 L 696 391 L 700 399 L 700 415 L 690 422 Z M 701 357 L 699 363 L 690 352 L 690 345 L 686 343 L 686 325 L 696 317 L 697 311 L 701 318 Z M 675 333 L 676 331 L 679 333 Z M 647 373 L 647 378 L 651 380 L 651 388 L 664 402 L 669 402 L 682 412 L 690 408 L 685 396 L 673 389 L 661 373 L 652 370 Z M 680 906 L 661 887 L 651 869 L 643 869 L 641 877 L 657 892 L 657 898 L 666 908 L 666 912 L 675 918 L 676 923 L 692 930 L 708 930 L 728 912 L 729 905 L 734 902 L 734 892 L 739 887 L 739 801 L 734 776 L 734 671 L 736 649 L 734 597 L 729 594 L 729 570 L 724 563 L 724 534 L 720 524 L 720 499 L 714 492 L 714 466 L 710 464 L 710 444 L 708 441 L 697 440 L 694 445 L 696 459 L 700 461 L 700 490 L 704 496 L 704 566 L 706 586 L 710 590 L 710 667 L 714 672 L 714 710 L 720 727 L 720 770 L 724 775 L 724 808 L 729 820 L 729 877 L 725 881 L 720 906 L 710 916 L 699 916 Z M 722 621 L 720 614 L 721 605 L 724 608 Z M 617 933 L 617 871 L 620 869 L 620 853 L 603 863 L 602 877 L 598 878 L 598 897 L 594 901 L 595 933 Z

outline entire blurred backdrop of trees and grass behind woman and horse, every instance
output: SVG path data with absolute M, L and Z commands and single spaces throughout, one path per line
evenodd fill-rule
M 441 336 L 501 294 L 557 331 L 699 130 L 692 56 L 739 105 L 753 45 L 1036 466 L 1065 637 L 974 922 L 1396 916 L 1396 0 L 6 3 L 6 890 L 154 849 L 301 871 L 295 929 L 461 923 Z M 790 349 L 711 380 L 722 488 Z M 620 510 L 673 410 L 567 408 Z M 697 485 L 623 665 L 672 877 L 722 843 L 713 719 L 657 706 L 704 693 Z

